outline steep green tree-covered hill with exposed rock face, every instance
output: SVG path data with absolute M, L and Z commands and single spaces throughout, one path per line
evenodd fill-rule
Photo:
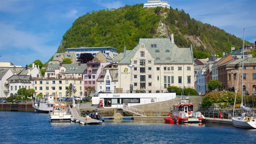
M 143 8 L 143 4 L 125 5 L 86 13 L 78 17 L 65 34 L 57 52 L 68 47 L 112 46 L 120 51 L 124 44 L 132 49 L 139 38 L 168 37 L 174 33 L 179 47 L 192 44 L 194 57 L 222 55 L 242 40 L 223 29 L 190 18 L 184 10 L 163 7 Z

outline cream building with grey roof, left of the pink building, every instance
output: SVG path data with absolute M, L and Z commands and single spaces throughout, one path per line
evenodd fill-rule
M 60 96 L 68 96 L 66 90 L 70 84 L 75 84 L 76 96 L 82 96 L 83 80 L 82 74 L 87 67 L 84 63 L 75 64 L 48 64 L 45 68 L 44 77 L 34 78 L 34 90 L 36 95 L 41 93 L 42 95 L 57 94 Z

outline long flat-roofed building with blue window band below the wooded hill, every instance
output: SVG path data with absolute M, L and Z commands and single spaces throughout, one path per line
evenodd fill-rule
M 111 58 L 118 54 L 118 49 L 110 46 L 102 47 L 75 47 L 75 48 L 65 48 L 67 52 L 74 52 L 75 59 L 78 60 L 81 53 L 91 53 L 95 56 L 98 52 L 103 52 L 109 55 Z

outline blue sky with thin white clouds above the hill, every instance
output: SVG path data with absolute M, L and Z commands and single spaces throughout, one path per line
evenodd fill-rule
M 162 1 L 239 38 L 243 38 L 245 28 L 245 39 L 254 41 L 256 0 Z M 145 2 L 147 0 L 0 0 L 0 61 L 21 66 L 36 59 L 45 63 L 79 16 Z

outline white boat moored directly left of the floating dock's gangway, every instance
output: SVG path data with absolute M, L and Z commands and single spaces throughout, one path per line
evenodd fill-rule
M 50 121 L 71 122 L 72 114 L 70 107 L 66 103 L 55 103 L 49 111 Z

